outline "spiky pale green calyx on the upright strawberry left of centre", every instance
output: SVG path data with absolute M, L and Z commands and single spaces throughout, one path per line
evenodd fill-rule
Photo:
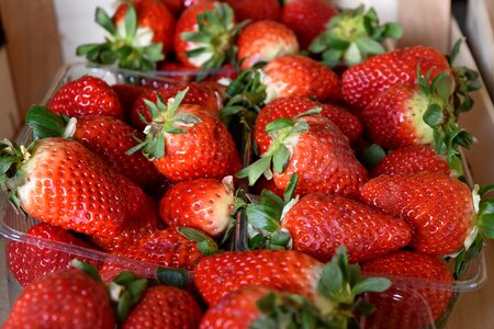
M 142 150 L 144 156 L 150 160 L 161 159 L 166 154 L 165 139 L 168 134 L 187 134 L 186 127 L 201 123 L 201 120 L 193 114 L 178 112 L 188 91 L 189 88 L 186 88 L 178 92 L 175 99 L 169 99 L 167 103 L 158 92 L 156 92 L 156 103 L 144 100 L 151 114 L 151 122 L 147 122 L 144 115 L 141 115 L 142 121 L 147 124 L 144 129 L 146 138 L 141 140 L 134 136 L 138 144 L 127 150 L 127 155 Z

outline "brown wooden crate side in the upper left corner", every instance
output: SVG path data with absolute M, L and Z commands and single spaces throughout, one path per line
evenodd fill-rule
M 24 117 L 63 64 L 53 2 L 0 0 L 0 12 L 16 103 Z

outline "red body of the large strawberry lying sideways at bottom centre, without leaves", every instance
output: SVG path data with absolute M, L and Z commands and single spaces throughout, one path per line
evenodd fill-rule
M 292 250 L 223 252 L 201 259 L 194 281 L 209 305 L 246 285 L 263 285 L 314 299 L 323 265 Z

